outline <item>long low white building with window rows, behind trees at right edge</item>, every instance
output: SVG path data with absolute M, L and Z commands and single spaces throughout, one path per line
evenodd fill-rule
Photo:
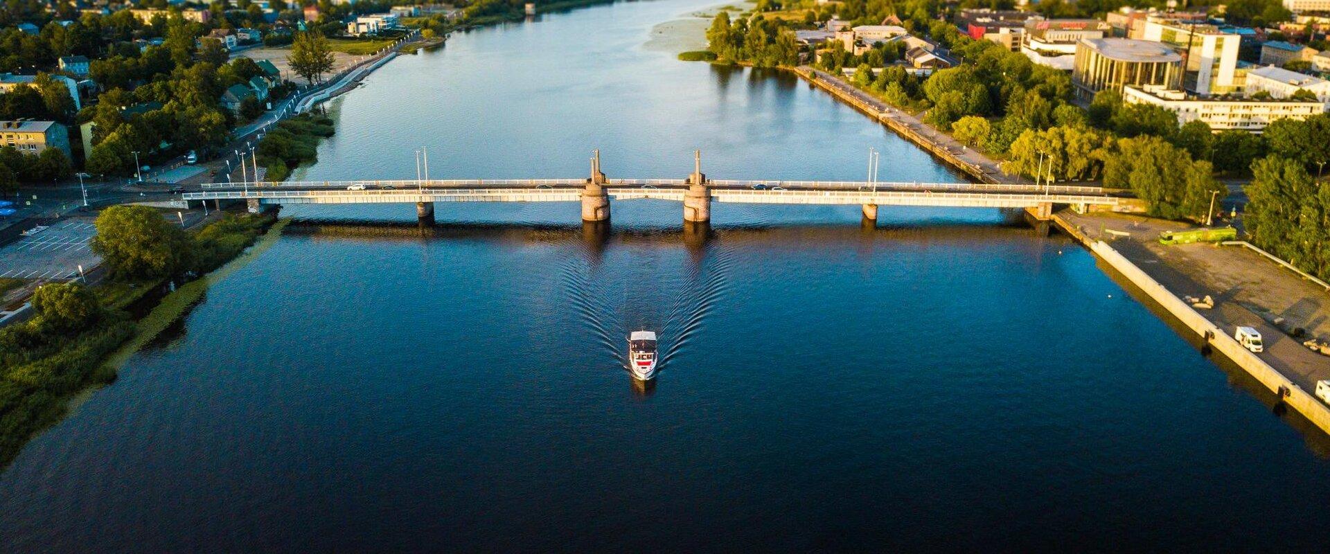
M 1279 120 L 1306 120 L 1325 113 L 1325 104 L 1294 100 L 1198 98 L 1160 86 L 1124 86 L 1123 101 L 1152 104 L 1177 114 L 1177 122 L 1204 121 L 1210 129 L 1260 133 Z

